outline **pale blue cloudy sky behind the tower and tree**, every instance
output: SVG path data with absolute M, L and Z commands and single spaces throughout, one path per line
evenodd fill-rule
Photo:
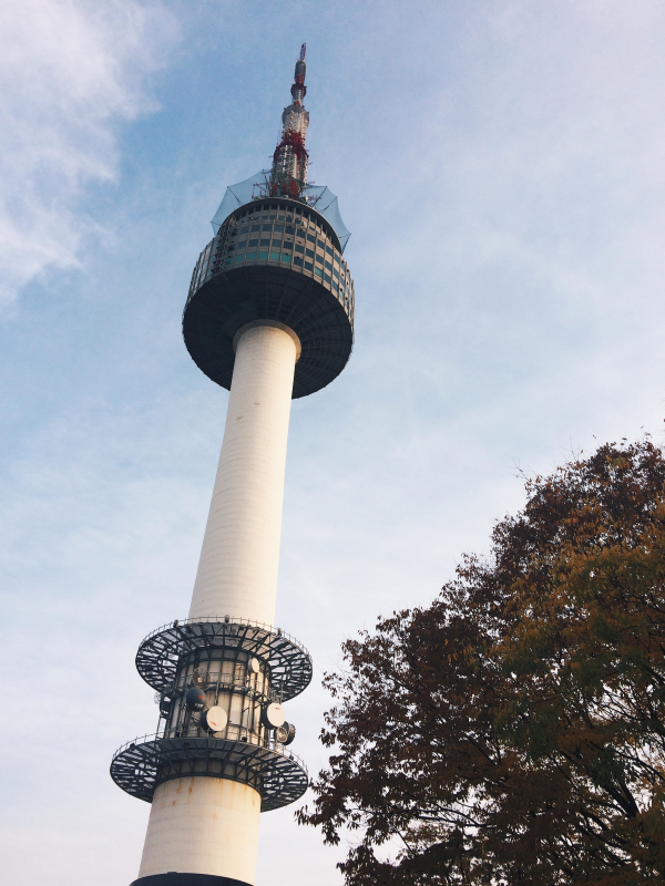
M 188 608 L 227 402 L 180 321 L 307 41 L 310 177 L 352 231 L 356 347 L 294 403 L 278 624 L 310 772 L 324 671 L 596 441 L 663 442 L 665 8 L 644 0 L 8 0 L 0 12 L 0 851 L 129 884 L 154 731 L 133 659 Z M 257 886 L 340 883 L 263 816 Z

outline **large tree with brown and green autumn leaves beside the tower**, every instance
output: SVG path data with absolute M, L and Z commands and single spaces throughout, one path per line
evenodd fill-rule
M 528 483 L 489 560 L 344 643 L 298 814 L 348 886 L 665 883 L 665 460 Z

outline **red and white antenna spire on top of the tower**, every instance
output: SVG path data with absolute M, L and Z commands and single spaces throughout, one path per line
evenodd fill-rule
M 305 148 L 309 112 L 303 106 L 307 94 L 305 74 L 307 64 L 305 52 L 307 44 L 300 47 L 300 55 L 296 62 L 294 83 L 290 87 L 291 103 L 282 114 L 282 140 L 273 154 L 269 190 L 275 197 L 290 197 L 303 200 L 307 185 L 307 167 L 309 155 Z

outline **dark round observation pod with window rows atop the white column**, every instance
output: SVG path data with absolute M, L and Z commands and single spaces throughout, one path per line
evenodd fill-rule
M 201 254 L 183 312 L 196 365 L 231 389 L 234 336 L 272 320 L 298 336 L 294 398 L 329 384 L 354 344 L 354 281 L 329 222 L 306 204 L 262 197 L 238 206 Z

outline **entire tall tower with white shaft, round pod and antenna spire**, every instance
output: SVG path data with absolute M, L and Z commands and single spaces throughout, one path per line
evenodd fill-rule
M 272 168 L 227 188 L 183 313 L 192 359 L 231 394 L 188 616 L 136 653 L 157 730 L 111 763 L 152 804 L 133 886 L 253 886 L 259 813 L 307 789 L 286 702 L 311 659 L 274 627 L 286 444 L 291 398 L 349 359 L 354 284 L 337 198 L 307 181 L 305 94 L 303 44 Z

